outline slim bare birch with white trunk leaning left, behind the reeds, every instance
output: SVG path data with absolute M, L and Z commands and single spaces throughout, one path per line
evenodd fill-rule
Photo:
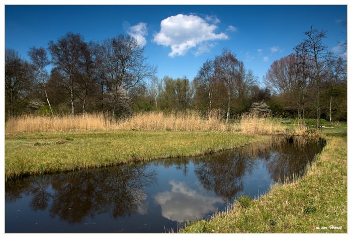
M 50 63 L 46 54 L 46 50 L 43 47 L 36 48 L 35 46 L 33 46 L 29 49 L 28 56 L 32 61 L 36 80 L 40 82 L 41 86 L 44 89 L 46 101 L 50 108 L 51 116 L 54 117 L 54 113 L 51 108 L 48 93 L 45 87 L 45 84 L 48 80 L 48 72 L 46 71 L 45 67 L 48 66 Z

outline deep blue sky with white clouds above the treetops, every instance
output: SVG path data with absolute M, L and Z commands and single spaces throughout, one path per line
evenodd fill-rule
M 67 32 L 102 42 L 132 34 L 145 45 L 158 77 L 191 80 L 223 48 L 236 53 L 261 81 L 271 63 L 292 52 L 311 26 L 327 30 L 336 51 L 346 41 L 346 6 L 6 6 L 5 46 L 28 59 L 29 47 L 47 47 Z

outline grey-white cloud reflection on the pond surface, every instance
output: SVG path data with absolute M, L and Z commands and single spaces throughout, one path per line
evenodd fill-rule
M 184 182 L 169 181 L 171 191 L 155 195 L 155 202 L 161 206 L 161 215 L 169 220 L 184 222 L 194 217 L 201 218 L 215 212 L 216 203 L 222 203 L 219 197 L 207 194 L 201 187 L 190 188 Z

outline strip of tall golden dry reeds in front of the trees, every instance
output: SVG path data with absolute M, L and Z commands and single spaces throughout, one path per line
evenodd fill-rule
M 257 113 L 245 113 L 234 123 L 225 123 L 221 113 L 214 110 L 207 116 L 198 111 L 144 112 L 115 120 L 108 113 L 83 116 L 62 115 L 57 117 L 24 115 L 10 118 L 6 133 L 63 132 L 63 131 L 112 131 L 112 130 L 185 130 L 185 131 L 233 131 L 242 134 L 287 134 L 280 120 Z

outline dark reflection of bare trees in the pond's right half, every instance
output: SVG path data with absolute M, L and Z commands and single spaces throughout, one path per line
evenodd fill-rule
M 307 163 L 320 152 L 323 141 L 304 137 L 273 137 L 265 143 L 224 151 L 194 160 L 204 188 L 229 201 L 243 190 L 242 179 L 263 161 L 274 182 L 302 176 Z

